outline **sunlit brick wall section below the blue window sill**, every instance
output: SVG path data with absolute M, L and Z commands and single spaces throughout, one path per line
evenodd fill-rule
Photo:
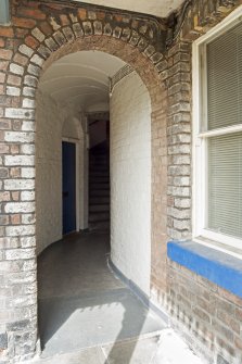
M 208 363 L 242 363 L 242 300 L 177 263 L 168 264 L 173 326 Z

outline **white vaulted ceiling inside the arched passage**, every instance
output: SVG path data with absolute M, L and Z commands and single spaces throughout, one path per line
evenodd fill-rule
M 126 63 L 100 51 L 80 51 L 54 62 L 42 75 L 39 88 L 61 104 L 80 111 L 109 110 L 109 77 Z

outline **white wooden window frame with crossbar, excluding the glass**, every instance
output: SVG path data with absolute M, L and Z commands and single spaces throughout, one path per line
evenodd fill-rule
M 242 130 L 242 124 L 213 130 L 203 130 L 207 120 L 206 89 L 202 89 L 206 75 L 206 45 L 225 32 L 242 22 L 242 5 L 228 15 L 222 22 L 206 35 L 193 42 L 192 49 L 192 95 L 193 95 L 193 240 L 206 246 L 213 246 L 242 259 L 242 239 L 215 233 L 205 228 L 207 206 L 207 140 L 212 136 Z M 202 104 L 203 103 L 203 104 Z

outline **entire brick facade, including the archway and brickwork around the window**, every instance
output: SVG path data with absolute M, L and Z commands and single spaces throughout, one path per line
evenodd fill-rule
M 42 70 L 79 50 L 129 63 L 152 101 L 152 296 L 194 349 L 217 363 L 241 350 L 241 300 L 166 260 L 169 238 L 191 236 L 190 42 L 240 1 L 190 2 L 177 22 L 76 3 L 12 0 L 12 24 L 0 26 L 0 357 L 35 353 L 35 95 Z M 167 187 L 168 185 L 168 187 Z M 167 264 L 168 263 L 168 264 Z M 240 325 L 240 332 L 239 326 Z M 234 354 L 235 353 L 235 354 Z M 222 362 L 224 361 L 224 362 Z M 234 363 L 239 363 L 238 361 Z

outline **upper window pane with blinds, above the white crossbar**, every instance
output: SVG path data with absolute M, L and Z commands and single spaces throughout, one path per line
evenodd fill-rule
M 242 24 L 207 45 L 207 129 L 242 123 Z

